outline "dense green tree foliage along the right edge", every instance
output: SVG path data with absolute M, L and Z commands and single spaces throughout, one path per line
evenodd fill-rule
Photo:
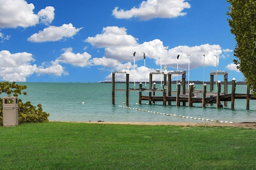
M 246 84 L 256 94 L 256 1 L 226 1 L 231 4 L 228 23 L 236 39 L 234 63 L 244 74 Z

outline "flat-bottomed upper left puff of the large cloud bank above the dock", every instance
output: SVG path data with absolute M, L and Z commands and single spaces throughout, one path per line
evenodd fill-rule
M 104 27 L 102 34 L 88 37 L 84 41 L 98 48 L 136 45 L 137 39 L 132 35 L 127 35 L 126 30 L 124 27 Z

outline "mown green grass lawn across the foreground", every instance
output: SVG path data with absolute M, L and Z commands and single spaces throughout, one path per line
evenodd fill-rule
M 0 127 L 0 169 L 254 169 L 256 130 L 23 123 Z

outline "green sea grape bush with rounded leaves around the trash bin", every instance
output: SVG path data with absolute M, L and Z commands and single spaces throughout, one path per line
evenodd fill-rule
M 0 82 L 0 94 L 6 93 L 8 96 L 18 96 L 18 94 L 26 95 L 26 92 L 21 92 L 26 89 L 26 86 L 21 86 L 16 84 L 16 82 Z M 49 113 L 43 111 L 42 105 L 38 104 L 33 106 L 30 101 L 23 103 L 21 99 L 18 99 L 18 121 L 23 122 L 44 122 L 49 121 Z M 2 98 L 0 98 L 0 124 L 3 123 L 3 103 Z

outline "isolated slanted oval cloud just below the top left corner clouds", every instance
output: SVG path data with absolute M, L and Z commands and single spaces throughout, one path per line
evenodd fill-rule
M 50 26 L 44 28 L 43 31 L 39 31 L 39 33 L 34 33 L 28 38 L 28 41 L 31 42 L 45 42 L 45 41 L 59 41 L 64 37 L 72 37 L 76 35 L 81 28 L 73 27 L 72 23 L 63 24 L 60 27 Z

